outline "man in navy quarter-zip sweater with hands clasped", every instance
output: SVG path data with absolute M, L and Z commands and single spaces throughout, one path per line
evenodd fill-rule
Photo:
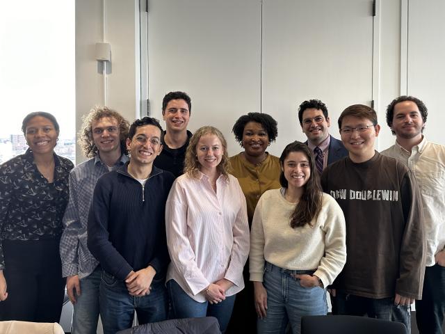
M 100 315 L 104 334 L 167 319 L 165 202 L 175 177 L 153 166 L 162 150 L 161 125 L 133 122 L 130 161 L 97 180 L 88 216 L 88 248 L 99 260 Z

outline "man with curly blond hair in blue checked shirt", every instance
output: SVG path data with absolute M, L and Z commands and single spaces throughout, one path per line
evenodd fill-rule
M 70 173 L 70 201 L 60 239 L 62 273 L 74 305 L 71 333 L 96 333 L 102 269 L 87 247 L 88 210 L 97 179 L 128 161 L 129 122 L 117 111 L 96 106 L 83 117 L 79 145 L 85 157 Z

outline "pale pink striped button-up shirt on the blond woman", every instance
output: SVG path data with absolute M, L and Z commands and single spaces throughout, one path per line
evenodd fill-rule
M 245 198 L 233 175 L 220 175 L 216 192 L 209 177 L 189 173 L 177 178 L 165 208 L 167 280 L 175 280 L 198 302 L 211 283 L 226 278 L 234 285 L 226 296 L 244 288 L 243 267 L 249 254 Z

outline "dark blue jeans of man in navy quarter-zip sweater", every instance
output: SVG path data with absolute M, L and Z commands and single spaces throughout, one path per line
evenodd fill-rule
M 131 328 L 135 310 L 139 324 L 167 319 L 168 297 L 163 279 L 153 280 L 152 290 L 146 296 L 134 297 L 130 296 L 123 280 L 102 271 L 99 289 L 104 334 Z

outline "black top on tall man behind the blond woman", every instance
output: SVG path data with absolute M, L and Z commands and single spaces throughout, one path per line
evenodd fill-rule
M 164 136 L 162 138 L 163 148 L 161 154 L 154 160 L 154 166 L 172 172 L 175 177 L 182 175 L 184 173 L 184 160 L 186 159 L 188 141 L 190 141 L 191 136 L 192 133 L 187 130 L 186 143 L 180 148 L 169 148 L 164 141 L 164 131 Z

